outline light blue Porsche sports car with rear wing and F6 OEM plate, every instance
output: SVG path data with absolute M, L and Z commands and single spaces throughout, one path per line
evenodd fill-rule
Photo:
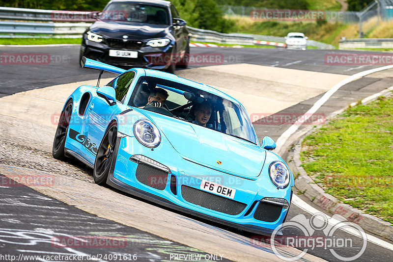
M 119 76 L 69 96 L 55 158 L 78 158 L 97 184 L 240 230 L 269 235 L 285 220 L 293 175 L 273 139 L 259 146 L 237 100 L 165 72 L 81 63 Z

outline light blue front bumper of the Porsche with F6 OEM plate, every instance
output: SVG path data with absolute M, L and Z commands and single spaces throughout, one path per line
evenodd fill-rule
M 107 183 L 168 208 L 256 234 L 269 235 L 284 221 L 289 208 L 266 203 L 261 199 L 283 198 L 290 203 L 290 186 L 277 189 L 266 175 L 250 180 L 221 173 L 171 151 L 174 151 L 173 148 L 165 140 L 152 151 L 142 146 L 135 137 L 117 138 L 116 159 L 112 163 Z M 168 167 L 170 172 L 163 173 L 154 168 L 149 169 L 150 173 L 140 171 L 144 163 L 130 160 L 134 155 L 149 157 Z M 202 179 L 236 189 L 234 198 L 201 190 Z

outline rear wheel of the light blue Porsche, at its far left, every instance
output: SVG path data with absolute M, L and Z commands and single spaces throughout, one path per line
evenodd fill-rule
M 64 145 L 70 125 L 72 113 L 72 100 L 68 101 L 64 106 L 64 110 L 60 114 L 59 122 L 57 125 L 55 139 L 53 140 L 52 156 L 59 160 L 64 160 Z

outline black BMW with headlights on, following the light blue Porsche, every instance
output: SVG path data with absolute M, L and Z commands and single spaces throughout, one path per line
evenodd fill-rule
M 111 0 L 82 38 L 80 57 L 173 73 L 190 53 L 186 22 L 164 0 Z

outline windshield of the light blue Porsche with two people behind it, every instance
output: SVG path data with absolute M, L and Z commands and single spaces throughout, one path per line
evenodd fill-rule
M 128 105 L 258 144 L 243 107 L 188 85 L 166 79 L 141 77 Z

